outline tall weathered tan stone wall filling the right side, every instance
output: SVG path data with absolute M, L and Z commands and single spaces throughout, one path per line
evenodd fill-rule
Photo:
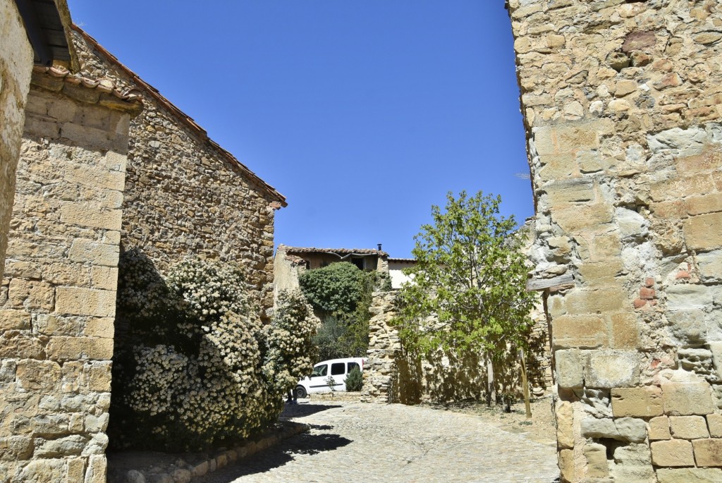
M 562 481 L 722 481 L 722 6 L 508 4 Z

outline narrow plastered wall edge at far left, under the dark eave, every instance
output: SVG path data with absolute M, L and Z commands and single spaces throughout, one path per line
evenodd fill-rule
M 25 102 L 30 89 L 32 48 L 13 0 L 0 0 L 0 278 L 15 192 Z

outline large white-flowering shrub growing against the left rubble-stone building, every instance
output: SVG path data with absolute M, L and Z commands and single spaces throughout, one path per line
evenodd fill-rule
M 313 367 L 319 323 L 303 295 L 282 295 L 264 327 L 238 267 L 188 258 L 158 279 L 141 254 L 121 258 L 118 297 L 131 299 L 118 300 L 110 441 L 203 450 L 276 422 L 284 393 Z

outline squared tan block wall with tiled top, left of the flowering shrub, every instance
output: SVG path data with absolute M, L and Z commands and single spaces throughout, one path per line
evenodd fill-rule
M 105 482 L 129 119 L 112 84 L 36 69 L 0 290 L 0 480 Z

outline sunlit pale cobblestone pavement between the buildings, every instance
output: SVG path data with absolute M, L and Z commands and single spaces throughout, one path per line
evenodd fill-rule
M 287 406 L 282 417 L 311 430 L 193 483 L 558 481 L 553 445 L 468 414 L 322 401 Z

